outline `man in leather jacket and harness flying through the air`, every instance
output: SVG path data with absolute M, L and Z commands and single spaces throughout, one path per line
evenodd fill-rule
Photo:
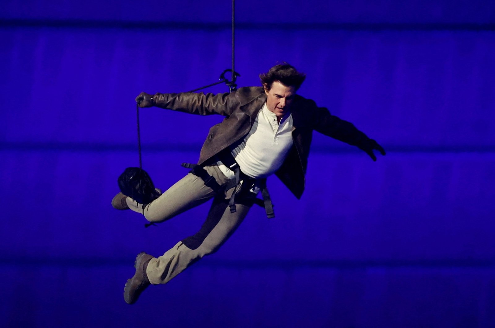
M 142 92 L 139 107 L 160 107 L 198 115 L 218 114 L 224 120 L 210 128 L 198 164 L 149 204 L 118 193 L 117 209 L 141 213 L 149 222 L 162 222 L 210 199 L 206 221 L 193 236 L 179 241 L 162 256 L 140 253 L 134 276 L 124 288 L 127 303 L 136 302 L 149 285 L 166 284 L 204 255 L 215 252 L 239 227 L 255 203 L 273 217 L 266 178 L 275 173 L 299 199 L 304 190 L 313 130 L 357 146 L 373 161 L 374 150 L 385 150 L 352 123 L 330 114 L 296 94 L 305 75 L 283 63 L 260 74 L 262 86 L 241 87 L 230 93 Z M 121 189 L 122 190 L 122 189 Z M 261 193 L 262 200 L 256 198 Z M 129 193 L 128 193 L 129 194 Z M 136 197 L 134 197 L 136 199 Z

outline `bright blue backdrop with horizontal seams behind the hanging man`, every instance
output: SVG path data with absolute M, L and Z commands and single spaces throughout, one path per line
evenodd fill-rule
M 216 82 L 231 2 L 4 0 L 0 326 L 495 327 L 493 3 L 237 2 L 239 86 L 287 61 L 300 94 L 387 156 L 315 133 L 300 201 L 271 177 L 275 219 L 253 208 L 129 306 L 136 254 L 161 255 L 208 208 L 144 229 L 111 207 L 139 164 L 134 98 Z M 167 188 L 222 118 L 140 119 L 144 168 Z

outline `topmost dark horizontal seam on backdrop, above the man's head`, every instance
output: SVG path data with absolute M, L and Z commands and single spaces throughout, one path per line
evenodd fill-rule
M 73 19 L 0 19 L 0 27 L 55 27 L 77 29 L 231 30 L 230 22 L 142 22 Z M 495 31 L 493 23 L 249 23 L 238 30 L 344 30 L 344 31 Z

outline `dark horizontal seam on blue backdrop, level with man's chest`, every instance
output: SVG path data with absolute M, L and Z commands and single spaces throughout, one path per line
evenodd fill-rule
M 142 149 L 148 153 L 159 152 L 195 152 L 201 148 L 201 142 L 195 143 L 174 143 L 174 144 L 144 144 Z M 495 145 L 446 145 L 446 146 L 422 146 L 422 145 L 384 145 L 388 154 L 391 153 L 495 153 Z M 132 144 L 91 144 L 91 143 L 36 143 L 36 142 L 2 142 L 0 151 L 60 151 L 60 152 L 135 152 L 137 149 Z M 357 148 L 347 145 L 314 145 L 311 147 L 314 154 L 355 154 L 361 153 Z

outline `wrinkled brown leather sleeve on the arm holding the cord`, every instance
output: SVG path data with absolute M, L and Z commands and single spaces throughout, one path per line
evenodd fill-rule
M 154 106 L 171 109 L 174 111 L 212 115 L 219 114 L 230 116 L 239 106 L 236 92 L 226 93 L 155 93 L 153 95 Z

